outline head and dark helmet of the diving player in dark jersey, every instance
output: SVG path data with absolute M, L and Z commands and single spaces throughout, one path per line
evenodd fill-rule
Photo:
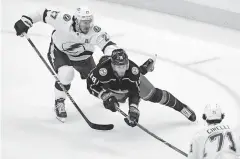
M 111 63 L 113 71 L 116 72 L 119 77 L 123 77 L 129 68 L 128 56 L 123 49 L 113 50 Z

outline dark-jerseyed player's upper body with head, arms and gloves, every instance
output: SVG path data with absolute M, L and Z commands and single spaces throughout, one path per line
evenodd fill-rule
M 104 107 L 112 112 L 116 112 L 115 106 L 119 106 L 119 102 L 125 102 L 128 98 L 129 118 L 124 121 L 129 126 L 136 126 L 140 114 L 140 72 L 123 49 L 114 50 L 111 58 L 91 71 L 87 88 L 91 94 L 102 99 Z

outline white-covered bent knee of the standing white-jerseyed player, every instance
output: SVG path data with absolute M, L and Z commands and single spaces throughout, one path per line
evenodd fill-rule
M 64 85 L 68 85 L 72 82 L 74 77 L 74 69 L 72 66 L 62 66 L 58 69 L 58 78 Z

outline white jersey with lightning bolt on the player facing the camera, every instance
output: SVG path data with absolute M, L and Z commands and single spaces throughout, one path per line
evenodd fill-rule
M 106 54 L 111 54 L 114 49 L 109 45 L 109 35 L 102 31 L 100 27 L 93 26 L 87 34 L 74 31 L 72 16 L 60 11 L 51 11 L 48 9 L 37 11 L 26 15 L 30 17 L 33 23 L 42 21 L 54 27 L 52 42 L 61 52 L 68 55 L 72 61 L 85 60 L 91 54 L 84 54 L 84 51 L 94 51 L 94 46 L 98 46 Z

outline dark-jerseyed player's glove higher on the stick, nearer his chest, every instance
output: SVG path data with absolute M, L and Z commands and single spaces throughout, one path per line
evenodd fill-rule
M 111 110 L 112 112 L 116 112 L 115 105 L 119 106 L 117 98 L 112 95 L 112 92 L 105 92 L 101 96 L 103 100 L 103 105 L 106 109 Z

